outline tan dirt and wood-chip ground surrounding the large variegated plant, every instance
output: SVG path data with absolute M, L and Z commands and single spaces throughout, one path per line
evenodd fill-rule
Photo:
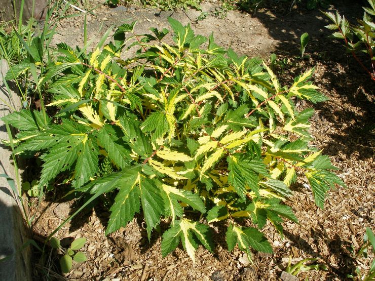
M 335 8 L 347 15 L 349 20 L 361 17 L 360 5 L 352 1 L 337 1 Z M 203 5 L 203 11 L 212 12 L 218 4 Z M 310 270 L 298 275 L 298 279 L 344 280 L 356 267 L 362 272 L 369 268 L 369 259 L 358 259 L 350 249 L 358 251 L 362 245 L 365 227 L 374 229 L 374 83 L 359 68 L 351 57 L 344 54 L 339 43 L 332 43 L 324 29 L 327 21 L 318 10 L 292 9 L 289 6 L 259 10 L 252 16 L 238 11 L 229 11 L 224 18 L 209 15 L 196 22 L 200 12 L 159 12 L 155 9 L 120 7 L 110 9 L 99 6 L 95 15 L 88 17 L 89 39 L 99 40 L 105 29 L 113 24 L 137 20 L 136 32 L 147 32 L 149 27 L 168 27 L 167 17 L 191 23 L 196 33 L 209 35 L 214 32 L 217 43 L 232 47 L 240 54 L 261 56 L 268 60 L 270 53 L 279 59 L 289 58 L 285 68 L 279 67 L 279 75 L 285 83 L 299 72 L 315 67 L 315 84 L 329 97 L 329 101 L 316 106 L 312 118 L 312 135 L 315 144 L 328 154 L 339 176 L 348 188 L 328 192 L 324 210 L 318 209 L 306 185 L 295 187 L 288 204 L 293 208 L 300 225 L 284 223 L 284 239 L 281 239 L 271 224 L 263 229 L 274 253 L 254 253 L 253 264 L 239 250 L 229 253 L 226 249 L 223 227 L 216 225 L 214 240 L 217 247 L 209 253 L 202 247 L 197 251 L 197 262 L 193 264 L 182 248 L 177 248 L 166 258 L 160 250 L 161 237 L 156 232 L 148 243 L 144 222 L 134 219 L 121 231 L 104 235 L 108 212 L 95 207 L 80 214 L 57 233 L 68 245 L 69 239 L 86 237 L 84 251 L 87 262 L 75 264 L 64 276 L 58 275 L 57 258 L 51 256 L 49 278 L 57 280 L 279 280 L 289 257 L 292 263 L 305 258 L 319 258 L 327 270 Z M 102 29 L 99 31 L 100 26 Z M 68 18 L 61 22 L 55 37 L 56 42 L 70 45 L 83 44 L 83 16 Z M 311 36 L 307 53 L 309 59 L 297 58 L 299 36 L 309 32 Z M 94 40 L 94 41 L 95 41 Z M 311 106 L 300 102 L 299 107 Z M 58 200 L 52 203 L 46 198 L 36 208 L 35 199 L 30 200 L 30 215 L 33 237 L 43 240 L 80 203 Z M 56 202 L 56 201 L 55 201 Z M 81 203 L 82 204 L 82 203 Z M 163 228 L 163 226 L 162 226 Z M 373 255 L 370 255 L 373 258 Z M 41 275 L 41 266 L 35 257 L 35 279 Z

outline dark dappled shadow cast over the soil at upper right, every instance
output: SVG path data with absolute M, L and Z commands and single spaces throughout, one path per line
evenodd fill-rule
M 356 23 L 357 18 L 363 17 L 363 5 L 361 1 L 332 1 L 329 11 L 338 10 L 350 22 Z M 343 43 L 329 38 L 331 32 L 325 28 L 329 21 L 318 9 L 307 11 L 298 8 L 288 12 L 285 9 L 280 12 L 278 7 L 274 7 L 257 11 L 254 16 L 279 42 L 275 47 L 278 56 L 299 56 L 299 37 L 308 32 L 310 42 L 306 52 L 311 54 L 310 67 L 314 67 L 318 62 L 328 66 L 320 77 L 320 82 L 324 83 L 324 88 L 329 91 L 326 95 L 335 95 L 337 99 L 351 105 L 350 109 L 344 105 L 335 106 L 333 112 L 332 106 L 326 102 L 314 106 L 319 110 L 319 117 L 333 123 L 335 131 L 339 132 L 328 133 L 329 140 L 328 143 L 325 142 L 324 153 L 331 156 L 344 154 L 345 158 L 350 158 L 353 153 L 359 159 L 372 157 L 375 141 L 374 83 L 358 62 L 345 53 Z M 364 63 L 369 64 L 367 57 L 361 58 Z M 343 124 L 350 125 L 343 130 Z

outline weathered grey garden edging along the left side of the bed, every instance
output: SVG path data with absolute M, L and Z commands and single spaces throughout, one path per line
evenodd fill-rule
M 0 61 L 0 117 L 11 112 L 10 106 L 20 108 L 18 95 L 4 85 L 3 77 L 9 69 L 6 60 Z M 6 126 L 0 120 L 0 139 L 9 140 Z M 16 179 L 11 161 L 12 152 L 0 145 L 0 174 Z M 6 178 L 0 177 L 0 280 L 31 280 L 30 249 L 22 249 L 28 239 L 29 229 L 25 222 L 20 200 L 9 186 Z

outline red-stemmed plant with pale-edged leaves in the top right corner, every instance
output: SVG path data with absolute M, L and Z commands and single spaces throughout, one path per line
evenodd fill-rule
M 333 37 L 343 39 L 347 52 L 351 53 L 358 64 L 368 73 L 372 81 L 375 81 L 375 0 L 368 0 L 370 7 L 363 7 L 364 15 L 362 20 L 357 20 L 354 25 L 336 11 L 336 14 L 324 13 L 333 23 L 326 26 L 333 32 Z M 358 53 L 365 53 L 369 59 L 368 63 L 363 63 Z M 367 65 L 367 66 L 366 66 Z

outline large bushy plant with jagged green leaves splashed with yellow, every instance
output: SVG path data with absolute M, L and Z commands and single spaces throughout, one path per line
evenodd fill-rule
M 164 42 L 168 30 L 139 35 L 132 23 L 87 55 L 58 45 L 39 83 L 53 94 L 47 108 L 59 111 L 6 116 L 20 130 L 15 152 L 41 157 L 41 187 L 64 178 L 91 194 L 89 202 L 115 193 L 107 234 L 142 212 L 148 238 L 161 219 L 169 222 L 163 256 L 180 243 L 193 261 L 199 244 L 213 251 L 218 222 L 229 251 L 270 253 L 261 232 L 267 221 L 281 235 L 284 219 L 297 222 L 284 204 L 291 184 L 307 178 L 319 208 L 334 184 L 344 186 L 329 158 L 309 146 L 314 110 L 294 107 L 295 99 L 327 98 L 309 82 L 312 69 L 282 86 L 260 59 L 169 23 L 173 44 Z M 121 59 L 134 46 L 138 52 Z M 111 165 L 106 173 L 103 163 Z

